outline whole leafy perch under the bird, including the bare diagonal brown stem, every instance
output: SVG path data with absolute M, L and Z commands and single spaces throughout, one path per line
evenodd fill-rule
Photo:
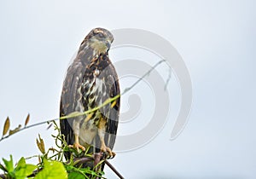
M 28 158 L 22 157 L 17 164 L 15 164 L 12 155 L 10 155 L 10 159 L 3 159 L 3 162 L 0 162 L 0 170 L 3 171 L 3 174 L 0 174 L 0 178 L 104 178 L 104 172 L 100 167 L 103 163 L 108 165 L 119 178 L 123 178 L 109 164 L 103 153 L 88 153 L 89 147 L 84 152 L 82 150 L 78 152 L 76 149 L 68 147 L 55 121 L 49 122 L 49 127 L 51 126 L 56 131 L 56 135 L 52 135 L 55 139 L 56 147 L 49 147 L 46 150 L 44 140 L 39 135 L 37 145 L 41 154 Z M 5 130 L 9 129 L 5 128 Z M 64 152 L 73 153 L 68 161 L 64 158 Z M 38 158 L 37 165 L 27 164 L 27 160 L 32 158 Z M 88 162 L 92 162 L 93 167 L 84 168 L 83 166 Z

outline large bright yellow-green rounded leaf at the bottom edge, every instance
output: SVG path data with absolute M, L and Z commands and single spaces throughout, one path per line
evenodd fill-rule
M 67 179 L 67 171 L 58 161 L 48 161 L 44 159 L 44 169 L 41 170 L 38 175 L 35 176 L 35 179 Z

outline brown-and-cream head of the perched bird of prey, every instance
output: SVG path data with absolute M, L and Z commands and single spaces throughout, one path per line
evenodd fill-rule
M 92 49 L 96 49 L 99 54 L 105 54 L 113 42 L 113 35 L 107 29 L 98 27 L 92 29 L 85 39 Z

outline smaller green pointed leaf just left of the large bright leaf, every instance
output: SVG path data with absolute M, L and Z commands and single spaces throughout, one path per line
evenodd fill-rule
M 15 167 L 15 177 L 16 179 L 26 178 L 26 176 L 30 176 L 36 168 L 36 165 L 27 165 L 25 159 L 22 157 Z

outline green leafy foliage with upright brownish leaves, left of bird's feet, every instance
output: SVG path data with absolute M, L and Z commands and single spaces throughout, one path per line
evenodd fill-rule
M 26 118 L 25 127 L 28 123 L 29 115 Z M 61 136 L 61 130 L 55 121 L 49 122 L 49 127 L 54 126 L 56 135 L 52 135 L 55 139 L 56 148 L 50 147 L 45 150 L 44 140 L 38 135 L 37 145 L 39 151 L 42 153 L 38 155 L 38 165 L 26 164 L 26 159 L 21 158 L 16 165 L 14 165 L 13 156 L 10 155 L 10 159 L 3 159 L 3 164 L 0 163 L 0 170 L 3 170 L 4 178 L 10 179 L 44 179 L 44 178 L 56 178 L 56 179 L 74 179 L 74 178 L 96 178 L 104 174 L 101 170 L 90 169 L 89 167 L 83 168 L 77 161 L 73 159 L 73 156 L 77 157 L 91 157 L 91 154 L 87 151 L 76 151 L 73 148 L 67 146 L 67 142 L 64 140 L 64 136 Z M 4 135 L 9 130 L 9 118 L 4 124 Z M 4 136 L 3 135 L 3 136 Z M 64 158 L 64 152 L 73 153 L 71 159 L 68 162 Z M 32 156 L 28 159 L 31 159 Z M 103 162 L 103 161 L 102 161 Z M 90 176 L 90 177 L 89 177 Z M 0 176 L 1 177 L 1 176 Z

